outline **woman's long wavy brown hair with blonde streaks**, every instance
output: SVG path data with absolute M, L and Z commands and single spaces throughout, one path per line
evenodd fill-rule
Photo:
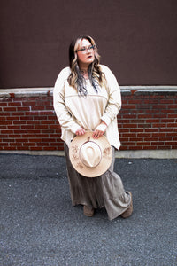
M 89 43 L 95 46 L 95 59 L 94 62 L 89 65 L 89 80 L 96 91 L 98 87 L 102 87 L 104 85 L 105 76 L 99 65 L 100 56 L 98 54 L 94 39 L 89 35 L 81 35 L 77 37 L 69 46 L 69 65 L 71 74 L 68 77 L 68 82 L 69 85 L 76 89 L 81 96 L 86 96 L 86 83 L 85 79 L 81 75 L 77 60 L 77 50 L 81 44 L 81 40 L 83 39 L 87 39 Z

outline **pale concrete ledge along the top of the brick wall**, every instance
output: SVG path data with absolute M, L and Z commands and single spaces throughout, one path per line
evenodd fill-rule
M 119 86 L 124 92 L 177 92 L 177 86 Z M 0 98 L 52 96 L 53 88 L 0 89 Z

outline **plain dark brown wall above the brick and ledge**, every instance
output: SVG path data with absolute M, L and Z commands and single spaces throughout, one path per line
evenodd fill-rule
M 53 86 L 75 35 L 120 85 L 177 84 L 176 0 L 1 0 L 0 88 Z

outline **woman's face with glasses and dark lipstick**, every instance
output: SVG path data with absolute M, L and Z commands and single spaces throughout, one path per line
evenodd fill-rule
M 77 51 L 77 57 L 80 67 L 88 67 L 91 63 L 93 63 L 95 59 L 95 51 L 93 45 L 89 43 L 89 40 L 81 40 L 81 45 L 78 47 Z

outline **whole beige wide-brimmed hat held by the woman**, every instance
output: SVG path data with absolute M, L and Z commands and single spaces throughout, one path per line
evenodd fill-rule
M 74 137 L 69 148 L 73 168 L 87 177 L 103 175 L 112 163 L 112 147 L 107 138 L 93 138 L 92 134 Z

